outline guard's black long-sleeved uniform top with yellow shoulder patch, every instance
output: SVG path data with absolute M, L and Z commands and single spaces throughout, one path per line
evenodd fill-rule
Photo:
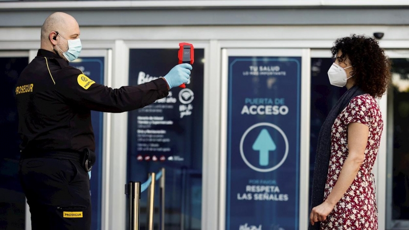
M 112 89 L 89 79 L 57 54 L 39 50 L 16 85 L 20 149 L 94 151 L 90 110 L 124 112 L 166 96 L 164 79 Z

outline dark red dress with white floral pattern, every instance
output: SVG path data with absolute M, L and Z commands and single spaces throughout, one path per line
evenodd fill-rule
M 365 94 L 351 100 L 338 115 L 332 126 L 331 157 L 325 186 L 324 200 L 335 186 L 339 173 L 348 156 L 348 124 L 362 123 L 369 127 L 365 160 L 352 185 L 335 205 L 322 230 L 378 229 L 378 211 L 375 200 L 375 184 L 371 173 L 378 153 L 383 129 L 379 106 L 372 96 Z

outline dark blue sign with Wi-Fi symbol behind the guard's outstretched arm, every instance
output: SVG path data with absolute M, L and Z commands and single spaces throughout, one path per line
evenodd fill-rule
M 177 43 L 175 44 L 177 48 Z M 177 65 L 177 49 L 129 50 L 129 85 L 165 76 Z M 166 98 L 128 114 L 128 180 L 144 182 L 166 169 L 165 229 L 200 229 L 204 50 L 195 49 L 191 80 Z M 158 206 L 158 189 L 155 191 Z M 141 194 L 141 216 L 147 192 Z M 155 214 L 158 216 L 158 214 Z M 155 224 L 157 218 L 154 219 Z M 147 229 L 141 219 L 141 229 Z

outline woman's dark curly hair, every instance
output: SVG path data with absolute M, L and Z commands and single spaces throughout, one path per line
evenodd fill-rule
M 382 97 L 391 80 L 391 62 L 379 47 L 378 41 L 372 37 L 352 34 L 334 42 L 331 48 L 333 58 L 339 50 L 342 56 L 338 60 L 343 62 L 348 56 L 353 65 L 351 75 L 354 75 L 355 85 L 372 97 Z

